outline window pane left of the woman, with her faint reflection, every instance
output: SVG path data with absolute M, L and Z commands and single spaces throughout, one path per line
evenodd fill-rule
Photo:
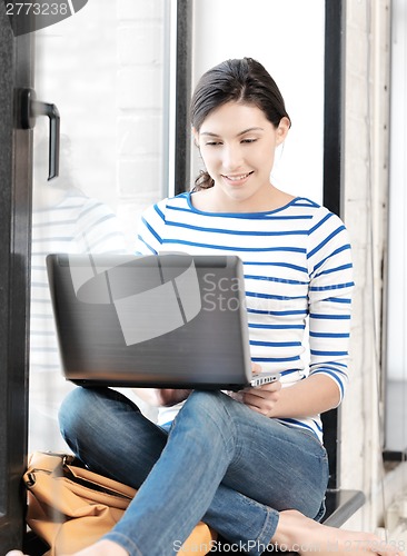
M 141 211 L 167 191 L 167 2 L 97 0 L 36 32 L 37 99 L 60 113 L 60 175 L 34 129 L 29 449 L 66 449 L 66 383 L 46 272 L 49 252 L 132 251 Z

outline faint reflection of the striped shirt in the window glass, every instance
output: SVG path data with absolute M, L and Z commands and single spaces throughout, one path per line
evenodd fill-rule
M 75 192 L 56 206 L 33 210 L 31 247 L 30 369 L 59 370 L 59 350 L 48 286 L 50 252 L 123 252 L 125 236 L 102 202 Z

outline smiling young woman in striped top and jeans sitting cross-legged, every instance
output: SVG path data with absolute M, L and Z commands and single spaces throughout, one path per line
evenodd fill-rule
M 269 543 L 301 553 L 395 554 L 373 535 L 318 523 L 328 479 L 319 414 L 340 404 L 347 383 L 347 231 L 324 207 L 270 182 L 290 119 L 260 63 L 228 60 L 205 73 L 191 121 L 206 172 L 192 192 L 147 210 L 138 250 L 237 254 L 255 370 L 281 379 L 235 396 L 145 391 L 169 408 L 160 413 L 162 427 L 112 390 L 73 390 L 60 410 L 73 453 L 141 487 L 120 523 L 79 555 L 175 554 L 200 519 L 252 555 Z

